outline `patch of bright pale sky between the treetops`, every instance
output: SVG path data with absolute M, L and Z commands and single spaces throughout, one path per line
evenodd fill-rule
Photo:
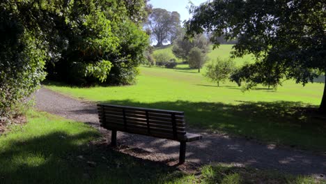
M 195 6 L 199 6 L 201 3 L 207 0 L 191 0 Z M 153 8 L 163 8 L 168 11 L 177 11 L 180 13 L 180 20 L 183 22 L 184 20 L 188 20 L 191 15 L 187 10 L 187 6 L 189 6 L 189 0 L 150 0 L 150 4 L 153 5 Z

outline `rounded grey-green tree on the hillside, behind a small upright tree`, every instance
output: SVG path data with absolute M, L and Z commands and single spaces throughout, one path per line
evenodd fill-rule
M 172 52 L 183 61 L 188 60 L 189 52 L 192 48 L 197 47 L 201 49 L 201 52 L 207 53 L 210 49 L 210 42 L 203 35 L 196 35 L 191 40 L 186 39 L 185 33 L 181 34 L 173 43 Z

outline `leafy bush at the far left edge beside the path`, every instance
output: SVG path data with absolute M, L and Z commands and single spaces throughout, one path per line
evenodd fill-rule
M 1 5 L 1 3 L 0 3 Z M 45 48 L 6 7 L 0 8 L 0 118 L 13 116 L 17 103 L 45 78 Z

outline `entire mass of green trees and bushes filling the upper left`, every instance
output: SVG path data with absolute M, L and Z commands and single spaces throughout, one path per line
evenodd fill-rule
M 0 2 L 0 116 L 45 78 L 132 84 L 148 47 L 146 0 Z M 46 68 L 46 70 L 45 70 Z

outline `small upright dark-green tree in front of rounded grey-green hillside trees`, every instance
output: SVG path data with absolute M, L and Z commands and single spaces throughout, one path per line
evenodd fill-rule
M 197 68 L 198 72 L 201 72 L 201 67 L 207 61 L 207 56 L 198 47 L 194 47 L 189 52 L 189 67 Z

